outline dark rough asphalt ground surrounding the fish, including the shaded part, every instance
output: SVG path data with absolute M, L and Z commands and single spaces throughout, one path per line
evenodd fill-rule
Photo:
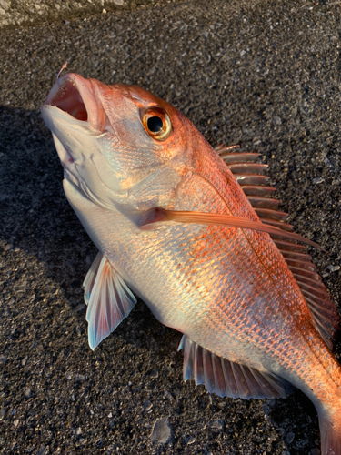
M 340 36 L 339 2 L 298 0 L 185 2 L 0 31 L 1 454 L 319 453 L 316 410 L 300 391 L 220 399 L 184 383 L 181 335 L 143 302 L 89 349 L 82 282 L 96 250 L 65 199 L 39 108 L 67 60 L 165 98 L 214 146 L 260 152 L 296 232 L 326 248 L 308 251 L 337 301 Z

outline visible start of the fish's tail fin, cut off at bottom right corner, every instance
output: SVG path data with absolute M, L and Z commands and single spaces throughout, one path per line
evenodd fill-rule
M 318 410 L 321 455 L 341 455 L 341 410 Z

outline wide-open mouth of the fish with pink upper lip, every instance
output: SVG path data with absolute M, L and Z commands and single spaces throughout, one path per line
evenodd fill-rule
M 101 103 L 91 79 L 75 73 L 60 77 L 49 91 L 43 108 L 45 106 L 55 106 L 74 120 L 86 123 L 89 129 L 101 131 Z

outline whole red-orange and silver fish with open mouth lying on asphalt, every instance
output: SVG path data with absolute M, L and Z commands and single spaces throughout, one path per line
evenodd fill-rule
M 220 397 L 302 390 L 323 455 L 341 455 L 336 305 L 272 198 L 258 154 L 211 147 L 144 88 L 69 73 L 41 108 L 65 196 L 98 254 L 85 281 L 91 349 L 141 298 L 183 334 L 184 379 Z

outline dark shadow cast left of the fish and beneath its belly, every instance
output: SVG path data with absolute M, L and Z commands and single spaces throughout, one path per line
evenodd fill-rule
M 0 125 L 2 248 L 6 255 L 24 255 L 28 262 L 30 258 L 38 260 L 45 279 L 55 281 L 84 332 L 82 283 L 97 250 L 66 200 L 63 167 L 51 133 L 39 111 L 1 106 Z M 40 290 L 34 291 L 39 301 Z M 155 336 L 161 342 L 158 334 L 165 332 L 164 326 L 141 301 L 129 319 L 136 330 L 148 334 L 148 339 Z M 134 342 L 125 337 L 125 326 L 123 321 L 115 333 Z M 179 339 L 174 330 L 166 332 Z

